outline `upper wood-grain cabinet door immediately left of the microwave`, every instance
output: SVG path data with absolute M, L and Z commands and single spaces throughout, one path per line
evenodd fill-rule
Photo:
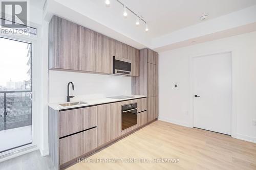
M 113 73 L 113 40 L 99 34 L 98 72 Z

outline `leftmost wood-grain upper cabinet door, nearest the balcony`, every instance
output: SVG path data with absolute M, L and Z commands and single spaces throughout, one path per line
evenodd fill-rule
M 57 16 L 49 23 L 49 69 L 53 68 L 79 69 L 79 26 Z

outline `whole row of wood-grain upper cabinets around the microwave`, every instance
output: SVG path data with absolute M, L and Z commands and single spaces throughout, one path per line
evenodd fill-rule
M 49 69 L 112 74 L 113 56 L 130 60 L 131 76 L 139 76 L 139 50 L 53 16 L 49 23 Z

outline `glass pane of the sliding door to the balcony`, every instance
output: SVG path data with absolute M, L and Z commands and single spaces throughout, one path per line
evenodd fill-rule
M 0 37 L 0 155 L 32 143 L 32 44 Z

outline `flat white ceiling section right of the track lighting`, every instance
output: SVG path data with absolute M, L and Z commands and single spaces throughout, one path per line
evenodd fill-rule
M 209 16 L 208 19 L 212 19 L 256 4 L 255 0 L 121 0 L 121 2 L 148 21 L 150 27 L 148 36 L 151 38 L 195 25 L 201 22 L 199 18 L 205 14 Z

